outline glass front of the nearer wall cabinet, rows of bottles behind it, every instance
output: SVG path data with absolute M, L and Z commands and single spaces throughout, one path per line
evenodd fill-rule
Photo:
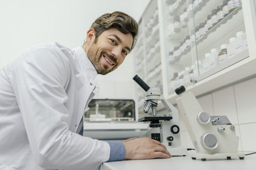
M 161 0 L 167 94 L 249 57 L 239 0 Z

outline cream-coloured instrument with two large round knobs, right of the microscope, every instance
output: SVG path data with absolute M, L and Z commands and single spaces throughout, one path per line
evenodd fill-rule
M 185 90 L 181 86 L 175 92 L 180 95 L 177 105 L 196 150 L 195 154 L 191 154 L 192 159 L 231 159 L 231 156 L 244 159 L 245 154 L 237 152 L 239 137 L 227 116 L 210 116 L 199 105 L 193 93 Z

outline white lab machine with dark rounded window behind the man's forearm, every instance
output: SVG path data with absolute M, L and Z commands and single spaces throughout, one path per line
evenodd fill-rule
M 92 99 L 84 113 L 84 136 L 99 140 L 145 137 L 146 123 L 137 122 L 133 99 Z

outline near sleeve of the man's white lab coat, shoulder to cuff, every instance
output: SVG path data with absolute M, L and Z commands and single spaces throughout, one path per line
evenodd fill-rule
M 9 79 L 18 101 L 33 157 L 51 169 L 99 169 L 107 142 L 69 131 L 65 88 L 71 65 L 60 49 L 39 46 L 20 54 Z

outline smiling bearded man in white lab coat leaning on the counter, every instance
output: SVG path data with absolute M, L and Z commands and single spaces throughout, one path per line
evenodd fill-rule
M 137 35 L 131 16 L 113 12 L 95 20 L 82 47 L 37 45 L 5 64 L 0 169 L 99 169 L 108 161 L 170 158 L 165 146 L 149 138 L 106 142 L 82 135 L 94 78 L 117 69 Z

